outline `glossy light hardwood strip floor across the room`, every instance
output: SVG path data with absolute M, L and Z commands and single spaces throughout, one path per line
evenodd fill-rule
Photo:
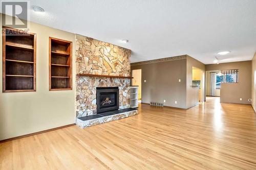
M 207 98 L 189 110 L 139 114 L 0 144 L 0 169 L 256 169 L 256 114 Z

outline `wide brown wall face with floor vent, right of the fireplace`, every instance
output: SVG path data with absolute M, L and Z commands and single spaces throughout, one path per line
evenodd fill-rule
M 141 69 L 143 103 L 166 100 L 165 106 L 186 108 L 186 59 L 133 65 L 131 69 Z

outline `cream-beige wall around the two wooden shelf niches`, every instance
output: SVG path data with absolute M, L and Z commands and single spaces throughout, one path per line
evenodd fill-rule
M 0 140 L 75 123 L 75 67 L 73 90 L 49 91 L 48 65 L 51 36 L 73 42 L 75 66 L 75 34 L 32 22 L 30 32 L 37 34 L 36 91 L 3 93 L 0 83 Z M 0 41 L 2 49 L 2 38 Z M 2 60 L 2 50 L 0 53 Z

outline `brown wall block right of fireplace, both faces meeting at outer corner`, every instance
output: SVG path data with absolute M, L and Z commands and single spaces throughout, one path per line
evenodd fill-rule
M 165 106 L 183 109 L 196 106 L 199 103 L 199 87 L 192 86 L 193 66 L 203 71 L 201 99 L 205 101 L 205 65 L 198 60 L 184 55 L 132 63 L 131 70 L 141 69 L 142 72 L 142 102 L 163 103 L 166 100 Z

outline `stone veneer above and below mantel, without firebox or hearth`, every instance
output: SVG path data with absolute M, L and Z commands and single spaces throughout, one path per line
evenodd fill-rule
M 124 76 L 131 74 L 131 50 L 76 35 L 76 74 Z M 130 79 L 76 76 L 76 116 L 96 114 L 96 87 L 119 87 L 119 108 L 130 107 Z

